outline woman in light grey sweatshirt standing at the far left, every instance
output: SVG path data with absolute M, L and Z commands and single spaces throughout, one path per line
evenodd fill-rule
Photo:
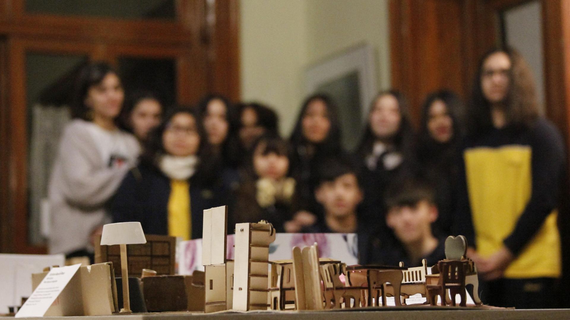
M 82 69 L 48 185 L 50 253 L 92 256 L 93 238 L 111 219 L 107 205 L 136 165 L 140 145 L 117 128 L 124 100 L 117 73 L 105 63 Z

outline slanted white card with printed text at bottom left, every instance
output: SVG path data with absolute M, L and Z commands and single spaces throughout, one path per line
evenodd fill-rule
M 80 266 L 81 264 L 76 264 L 52 268 L 20 308 L 16 318 L 43 317 Z

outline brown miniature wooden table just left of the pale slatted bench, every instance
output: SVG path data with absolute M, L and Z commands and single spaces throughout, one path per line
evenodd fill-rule
M 380 306 L 380 298 L 382 305 L 386 305 L 387 282 L 392 284 L 393 296 L 398 297 L 394 299 L 396 305 L 401 306 L 399 297 L 404 269 L 400 266 L 354 265 L 347 266 L 347 275 L 351 286 L 365 289 L 366 306 Z

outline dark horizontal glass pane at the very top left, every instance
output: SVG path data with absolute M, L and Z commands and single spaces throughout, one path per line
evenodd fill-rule
M 176 19 L 174 0 L 26 0 L 26 12 L 117 19 Z

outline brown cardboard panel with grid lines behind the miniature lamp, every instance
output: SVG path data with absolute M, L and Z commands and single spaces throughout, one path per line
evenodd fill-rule
M 127 258 L 129 274 L 140 274 L 143 269 L 156 271 L 157 276 L 174 274 L 176 266 L 176 237 L 164 235 L 145 235 L 146 243 L 129 244 Z M 115 268 L 121 268 L 121 249 L 119 245 L 95 244 L 95 263 L 113 262 Z

